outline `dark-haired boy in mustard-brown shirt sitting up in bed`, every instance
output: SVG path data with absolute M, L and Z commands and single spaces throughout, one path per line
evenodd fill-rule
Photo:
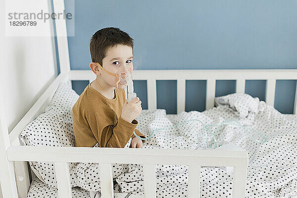
M 118 28 L 97 31 L 90 42 L 90 68 L 97 75 L 72 107 L 76 147 L 143 147 L 135 120 L 142 111 L 137 97 L 128 102 L 127 84 L 119 81 L 133 70 L 133 39 Z M 119 73 L 119 75 L 117 75 Z

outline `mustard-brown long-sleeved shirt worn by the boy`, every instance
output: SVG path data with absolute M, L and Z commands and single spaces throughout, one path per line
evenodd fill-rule
M 72 107 L 75 147 L 124 148 L 135 133 L 145 138 L 136 128 L 138 122 L 131 123 L 121 117 L 126 99 L 124 90 L 115 88 L 115 98 L 107 99 L 96 91 L 91 83 L 85 88 Z

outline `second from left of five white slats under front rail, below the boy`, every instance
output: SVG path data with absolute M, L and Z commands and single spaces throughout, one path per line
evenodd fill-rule
M 100 186 L 102 198 L 113 198 L 113 180 L 111 164 L 100 163 Z

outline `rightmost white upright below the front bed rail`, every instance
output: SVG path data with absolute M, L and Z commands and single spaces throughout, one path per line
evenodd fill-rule
M 247 167 L 233 168 L 232 197 L 245 198 Z

